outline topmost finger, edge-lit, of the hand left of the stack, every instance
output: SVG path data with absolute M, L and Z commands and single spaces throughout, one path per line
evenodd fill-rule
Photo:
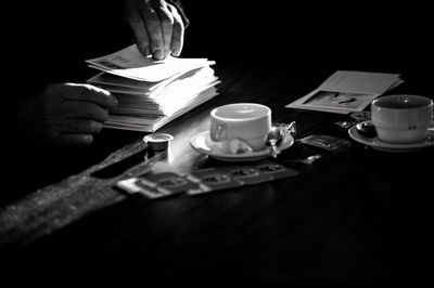
M 65 83 L 62 97 L 75 101 L 89 101 L 100 105 L 103 108 L 114 108 L 117 106 L 117 100 L 108 91 L 91 86 Z

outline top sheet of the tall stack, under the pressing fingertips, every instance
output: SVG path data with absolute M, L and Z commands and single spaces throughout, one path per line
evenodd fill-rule
M 136 44 L 115 53 L 87 60 L 90 67 L 140 81 L 157 82 L 186 71 L 213 65 L 215 62 L 207 58 L 179 58 L 168 56 L 163 61 L 155 61 L 151 56 L 144 57 Z

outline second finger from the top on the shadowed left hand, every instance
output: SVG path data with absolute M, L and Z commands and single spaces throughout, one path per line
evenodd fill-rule
M 104 122 L 108 119 L 108 112 L 91 102 L 68 101 L 64 105 L 64 118 L 88 118 Z

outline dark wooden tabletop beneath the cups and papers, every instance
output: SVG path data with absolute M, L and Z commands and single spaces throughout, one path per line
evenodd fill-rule
M 151 171 L 227 165 L 195 152 L 189 141 L 207 129 L 212 108 L 232 102 L 264 103 L 273 121 L 295 120 L 296 139 L 322 133 L 350 141 L 334 125 L 349 116 L 284 107 L 333 70 L 214 68 L 222 80 L 220 95 L 161 130 L 175 140 Z M 431 96 L 418 78 L 407 77 L 392 92 Z M 281 157 L 323 157 L 293 166 L 295 178 L 156 200 L 114 188 L 118 180 L 143 172 L 142 165 L 108 179 L 91 175 L 143 149 L 143 135 L 103 131 L 98 142 L 104 144 L 103 161 L 1 208 L 2 277 L 363 286 L 413 284 L 431 273 L 424 263 L 431 262 L 432 148 L 384 153 L 350 141 L 348 148 L 328 153 L 296 143 Z M 128 143 L 113 141 L 123 138 Z

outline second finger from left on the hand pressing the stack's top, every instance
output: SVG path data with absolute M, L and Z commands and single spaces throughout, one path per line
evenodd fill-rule
M 151 53 L 155 60 L 164 58 L 163 35 L 159 17 L 155 9 L 143 2 L 140 5 L 145 23 L 148 36 L 151 42 Z

